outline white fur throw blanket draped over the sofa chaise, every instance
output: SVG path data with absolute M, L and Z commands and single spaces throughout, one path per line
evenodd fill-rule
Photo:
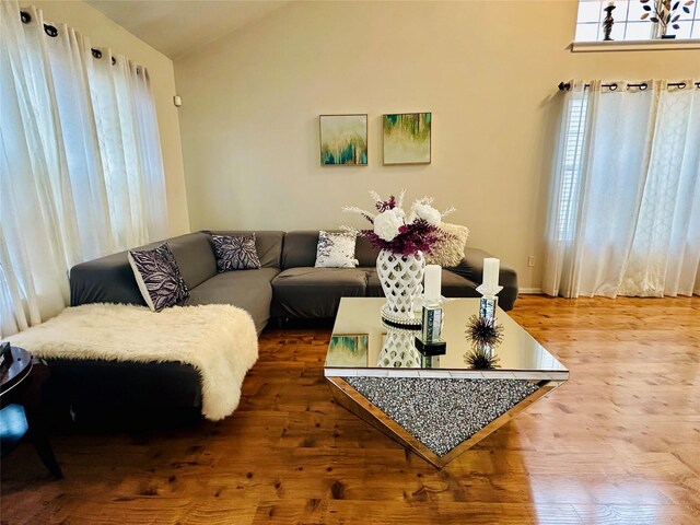
M 258 359 L 250 315 L 224 304 L 145 306 L 85 304 L 10 338 L 38 358 L 180 361 L 201 375 L 202 415 L 219 420 L 241 400 L 246 372 Z

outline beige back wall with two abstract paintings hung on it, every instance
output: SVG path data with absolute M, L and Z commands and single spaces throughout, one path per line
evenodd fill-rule
M 538 288 L 557 84 L 700 75 L 698 51 L 572 54 L 575 1 L 294 2 L 175 62 L 192 229 L 362 225 L 368 190 L 454 205 Z M 381 115 L 432 112 L 432 164 L 382 165 Z M 368 167 L 322 167 L 318 115 L 366 113 Z M 527 267 L 527 257 L 537 265 Z

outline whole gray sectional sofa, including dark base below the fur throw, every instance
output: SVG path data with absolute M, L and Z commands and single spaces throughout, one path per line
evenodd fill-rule
M 258 334 L 270 317 L 329 318 L 335 316 L 342 296 L 383 295 L 374 268 L 377 250 L 363 237 L 357 243 L 357 268 L 314 268 L 317 231 L 255 232 L 261 268 L 218 273 L 211 233 L 249 232 L 196 232 L 167 240 L 190 291 L 182 304 L 225 303 L 242 307 L 252 315 Z M 476 287 L 481 281 L 485 257 L 489 255 L 467 248 L 457 267 L 443 269 L 443 295 L 479 296 Z M 511 310 L 517 298 L 517 276 L 501 267 L 500 283 L 503 291 L 499 304 Z M 100 302 L 145 304 L 126 252 L 73 267 L 70 292 L 73 306 Z M 49 365 L 52 376 L 48 396 L 54 402 L 70 405 L 78 418 L 122 409 L 133 418 L 135 407 L 149 418 L 182 407 L 196 412 L 201 402 L 198 372 L 177 362 L 51 360 Z

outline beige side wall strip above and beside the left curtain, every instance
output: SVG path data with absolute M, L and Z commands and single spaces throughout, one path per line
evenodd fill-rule
M 44 12 L 46 21 L 66 23 L 88 36 L 93 46 L 109 47 L 117 55 L 126 55 L 148 68 L 161 133 L 170 234 L 189 232 L 179 121 L 177 108 L 173 105 L 175 94 L 173 61 L 86 3 L 80 1 L 33 1 L 31 3 Z

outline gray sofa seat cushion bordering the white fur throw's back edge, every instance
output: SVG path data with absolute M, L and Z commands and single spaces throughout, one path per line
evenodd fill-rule
M 182 305 L 233 304 L 245 310 L 253 317 L 258 335 L 270 318 L 272 287 L 270 282 L 279 273 L 277 268 L 226 271 L 189 291 Z

